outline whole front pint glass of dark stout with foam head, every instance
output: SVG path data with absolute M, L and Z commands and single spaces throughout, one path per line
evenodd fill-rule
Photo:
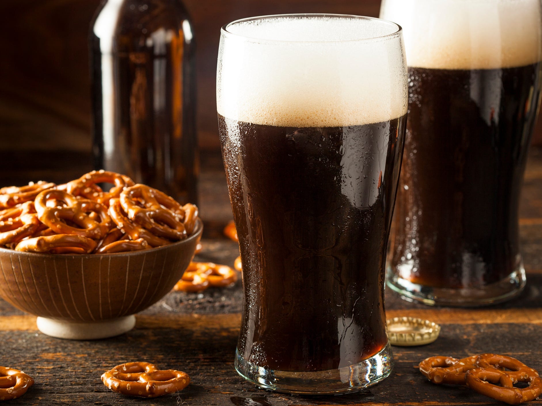
M 395 23 L 223 27 L 218 123 L 244 289 L 235 367 L 248 381 L 323 394 L 389 375 L 385 248 L 407 103 Z

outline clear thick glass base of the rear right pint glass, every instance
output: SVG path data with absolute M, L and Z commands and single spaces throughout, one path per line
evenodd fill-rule
M 506 302 L 518 296 L 525 287 L 523 265 L 506 278 L 480 288 L 431 287 L 412 283 L 388 268 L 386 284 L 409 302 L 427 305 L 474 307 Z

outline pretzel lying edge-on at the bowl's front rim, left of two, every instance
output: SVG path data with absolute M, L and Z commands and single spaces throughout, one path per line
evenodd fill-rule
M 91 253 L 96 248 L 96 241 L 75 234 L 55 234 L 22 240 L 15 251 L 63 253 Z

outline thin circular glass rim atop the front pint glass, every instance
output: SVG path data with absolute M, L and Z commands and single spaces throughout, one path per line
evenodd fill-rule
M 262 19 L 269 19 L 269 18 L 280 18 L 280 17 L 335 17 L 335 18 L 352 18 L 352 19 L 359 19 L 359 20 L 372 20 L 372 21 L 379 21 L 382 23 L 385 23 L 387 25 L 392 25 L 393 27 L 396 27 L 396 30 L 393 32 L 390 32 L 390 34 L 385 35 L 376 35 L 373 37 L 367 37 L 367 38 L 354 38 L 351 40 L 324 40 L 324 41 L 296 41 L 296 40 L 270 40 L 268 38 L 257 38 L 257 37 L 250 37 L 246 35 L 241 34 L 235 34 L 234 32 L 228 31 L 228 27 L 234 24 L 248 22 L 248 21 L 258 21 Z M 237 38 L 238 40 L 243 41 L 257 41 L 262 43 L 306 43 L 306 44 L 318 44 L 318 43 L 333 43 L 333 42 L 371 42 L 375 40 L 389 40 L 391 38 L 399 37 L 402 34 L 403 28 L 401 25 L 394 23 L 393 21 L 389 21 L 387 19 L 378 18 L 378 17 L 367 17 L 367 16 L 359 16 L 355 14 L 330 14 L 330 13 L 294 13 L 294 14 L 270 14 L 266 16 L 256 16 L 256 17 L 247 17 L 247 18 L 240 18 L 236 19 L 235 21 L 232 21 L 230 23 L 224 24 L 222 28 L 220 29 L 221 36 L 223 37 L 231 37 L 231 38 Z

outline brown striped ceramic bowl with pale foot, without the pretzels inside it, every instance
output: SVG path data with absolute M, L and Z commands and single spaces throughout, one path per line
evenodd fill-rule
M 97 339 L 129 331 L 134 313 L 171 291 L 183 276 L 203 224 L 187 239 L 144 251 L 40 254 L 0 248 L 0 297 L 38 316 L 43 333 Z

